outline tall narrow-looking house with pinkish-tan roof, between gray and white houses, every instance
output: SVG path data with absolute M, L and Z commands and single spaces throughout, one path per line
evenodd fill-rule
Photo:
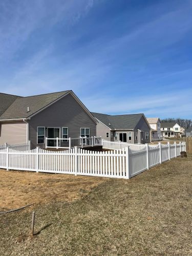
M 151 127 L 151 141 L 162 140 L 160 119 L 155 117 L 147 118 L 146 120 Z

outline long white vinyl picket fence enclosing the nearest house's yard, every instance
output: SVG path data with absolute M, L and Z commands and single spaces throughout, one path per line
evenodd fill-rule
M 46 151 L 39 147 L 30 151 L 12 148 L 0 150 L 0 168 L 34 172 L 74 174 L 129 179 L 185 151 L 185 142 L 179 144 L 142 145 L 123 150 L 91 152 L 80 148 L 69 151 Z

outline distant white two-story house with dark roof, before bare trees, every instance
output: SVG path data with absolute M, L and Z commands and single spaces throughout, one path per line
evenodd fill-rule
M 163 138 L 179 138 L 183 136 L 183 127 L 176 122 L 161 123 Z

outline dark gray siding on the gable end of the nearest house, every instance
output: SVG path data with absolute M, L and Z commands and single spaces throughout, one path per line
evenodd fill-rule
M 29 120 L 31 146 L 43 148 L 45 144 L 37 144 L 37 126 L 60 127 L 60 136 L 62 135 L 61 127 L 69 127 L 71 138 L 78 138 L 80 128 L 87 127 L 90 128 L 90 136 L 96 136 L 96 123 L 70 94 Z

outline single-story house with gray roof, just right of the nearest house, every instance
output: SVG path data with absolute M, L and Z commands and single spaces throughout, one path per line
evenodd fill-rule
M 150 142 L 150 125 L 144 114 L 105 115 L 92 113 L 97 119 L 97 136 L 109 141 Z

